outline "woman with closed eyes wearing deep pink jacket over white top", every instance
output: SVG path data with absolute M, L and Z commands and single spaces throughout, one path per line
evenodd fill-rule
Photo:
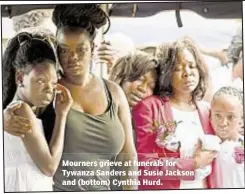
M 188 40 L 164 44 L 157 49 L 156 56 L 159 78 L 155 95 L 143 99 L 132 111 L 138 158 L 146 161 L 147 157 L 153 157 L 147 155 L 151 153 L 157 159 L 173 159 L 175 172 L 186 171 L 193 175 L 142 175 L 139 188 L 209 188 L 210 164 L 215 153 L 197 146 L 205 134 L 212 134 L 208 126 L 208 106 L 200 102 L 206 92 L 206 66 L 196 46 Z M 142 172 L 145 170 L 139 168 Z M 202 170 L 201 176 L 196 176 Z M 161 184 L 144 185 L 145 179 L 160 179 Z

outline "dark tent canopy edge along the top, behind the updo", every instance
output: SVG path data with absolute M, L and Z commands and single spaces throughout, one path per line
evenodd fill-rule
M 2 5 L 2 17 L 13 17 L 35 9 L 53 9 L 55 4 Z M 181 10 L 191 10 L 205 18 L 235 19 L 242 18 L 242 1 L 216 2 L 145 2 L 110 4 L 110 16 L 147 17 L 161 11 L 176 10 L 180 19 Z

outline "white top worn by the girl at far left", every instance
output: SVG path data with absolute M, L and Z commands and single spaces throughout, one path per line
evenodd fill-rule
M 42 126 L 42 121 L 37 119 Z M 44 135 L 43 131 L 40 131 Z M 53 191 L 53 179 L 31 159 L 21 137 L 4 132 L 5 192 Z

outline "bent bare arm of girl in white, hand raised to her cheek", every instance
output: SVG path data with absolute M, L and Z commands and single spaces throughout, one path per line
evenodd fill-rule
M 23 143 L 33 161 L 47 176 L 53 176 L 59 165 L 64 145 L 66 116 L 72 103 L 68 90 L 64 89 L 64 87 L 59 87 L 62 94 L 59 94 L 59 97 L 56 98 L 55 126 L 49 145 L 42 133 L 42 127 L 37 123 L 36 116 L 30 106 L 24 103 L 16 111 L 17 114 L 27 117 L 32 122 L 32 133 L 25 135 Z

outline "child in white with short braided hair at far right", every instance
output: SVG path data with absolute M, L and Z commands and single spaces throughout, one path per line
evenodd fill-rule
M 244 188 L 244 136 L 237 130 L 242 115 L 242 93 L 233 87 L 218 90 L 211 103 L 211 123 L 222 140 L 213 172 L 217 188 Z

